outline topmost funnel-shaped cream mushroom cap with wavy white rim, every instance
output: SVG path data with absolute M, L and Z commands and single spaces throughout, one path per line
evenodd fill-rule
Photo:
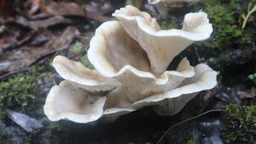
M 155 18 L 134 6 L 116 10 L 113 16 L 146 51 L 151 69 L 158 74 L 166 71 L 173 58 L 187 46 L 209 38 L 213 31 L 204 12 L 186 14 L 182 30 L 161 30 Z

